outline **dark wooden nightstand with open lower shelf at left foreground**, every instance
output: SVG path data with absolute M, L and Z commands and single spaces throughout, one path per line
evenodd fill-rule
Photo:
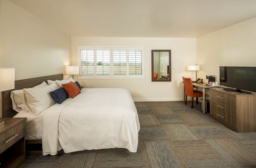
M 0 167 L 19 167 L 25 161 L 27 118 L 0 118 Z

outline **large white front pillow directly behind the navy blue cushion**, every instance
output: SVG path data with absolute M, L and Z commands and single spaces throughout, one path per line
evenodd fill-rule
M 50 95 L 50 91 L 58 89 L 55 83 L 44 87 L 34 87 L 23 89 L 23 104 L 27 107 L 28 111 L 38 115 L 43 110 L 55 104 L 55 101 Z

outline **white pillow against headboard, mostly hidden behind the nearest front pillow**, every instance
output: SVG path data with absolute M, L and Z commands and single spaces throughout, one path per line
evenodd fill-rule
M 34 87 L 44 87 L 47 86 L 46 82 L 42 82 L 37 86 Z M 25 111 L 28 112 L 26 106 L 23 104 L 23 89 L 11 91 L 11 99 L 12 99 L 12 109 L 21 112 Z

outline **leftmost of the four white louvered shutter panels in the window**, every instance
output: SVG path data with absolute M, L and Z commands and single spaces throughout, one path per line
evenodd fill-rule
M 80 75 L 94 75 L 94 50 L 80 50 Z

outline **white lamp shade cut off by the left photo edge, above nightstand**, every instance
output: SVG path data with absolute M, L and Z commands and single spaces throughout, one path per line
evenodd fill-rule
M 15 68 L 0 68 L 0 91 L 14 89 Z

